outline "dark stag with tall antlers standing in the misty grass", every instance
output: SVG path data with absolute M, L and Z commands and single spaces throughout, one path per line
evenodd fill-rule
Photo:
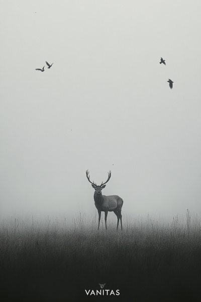
M 101 212 L 105 212 L 105 223 L 106 223 L 106 230 L 107 230 L 107 216 L 108 212 L 114 212 L 117 215 L 117 230 L 119 226 L 119 220 L 121 221 L 121 229 L 122 229 L 122 206 L 123 206 L 123 199 L 119 197 L 118 195 L 102 195 L 102 189 L 106 187 L 106 183 L 109 182 L 111 178 L 111 171 L 108 172 L 108 179 L 105 183 L 103 183 L 100 186 L 97 186 L 96 183 L 91 182 L 89 179 L 89 171 L 86 170 L 86 177 L 91 183 L 92 188 L 95 190 L 93 198 L 95 202 L 95 207 L 98 211 L 98 227 L 100 225 L 100 216 Z

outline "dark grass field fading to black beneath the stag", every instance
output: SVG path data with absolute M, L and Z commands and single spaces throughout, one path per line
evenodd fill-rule
M 3 301 L 201 300 L 201 224 L 174 217 L 170 224 L 147 218 L 108 231 L 79 216 L 66 220 L 1 222 Z M 120 294 L 96 293 L 104 289 Z

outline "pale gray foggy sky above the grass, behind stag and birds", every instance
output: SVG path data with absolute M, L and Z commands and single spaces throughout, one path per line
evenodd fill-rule
M 1 216 L 200 216 L 200 1 L 0 3 Z

